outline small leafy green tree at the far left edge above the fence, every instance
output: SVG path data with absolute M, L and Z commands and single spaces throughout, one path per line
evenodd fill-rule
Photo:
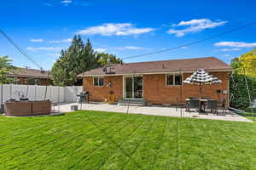
M 0 57 L 0 83 L 12 83 L 15 82 L 15 78 L 8 77 L 9 73 L 15 73 L 19 71 L 17 67 L 11 64 L 12 59 L 8 56 Z

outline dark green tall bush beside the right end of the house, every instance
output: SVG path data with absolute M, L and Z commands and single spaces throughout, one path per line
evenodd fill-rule
M 256 99 L 256 78 L 246 77 L 251 99 Z M 238 74 L 232 75 L 230 78 L 230 106 L 236 109 L 245 110 L 250 105 L 245 77 Z

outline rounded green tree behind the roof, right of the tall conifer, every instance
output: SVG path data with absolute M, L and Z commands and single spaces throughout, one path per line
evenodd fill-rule
M 122 59 L 119 59 L 113 54 L 98 53 L 96 54 L 96 59 L 100 66 L 108 64 L 119 64 L 122 62 Z

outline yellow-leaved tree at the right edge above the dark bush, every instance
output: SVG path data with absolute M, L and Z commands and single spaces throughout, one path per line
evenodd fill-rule
M 231 65 L 237 74 L 244 74 L 249 77 L 256 77 L 256 48 L 232 59 Z

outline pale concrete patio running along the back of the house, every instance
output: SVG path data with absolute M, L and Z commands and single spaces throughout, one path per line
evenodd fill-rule
M 229 113 L 225 116 L 217 116 L 213 114 L 199 114 L 196 111 L 192 111 L 190 114 L 184 109 L 177 109 L 175 107 L 160 107 L 160 106 L 135 106 L 130 105 L 129 108 L 127 105 L 108 105 L 108 104 L 78 104 L 78 103 L 69 103 L 53 106 L 55 112 L 70 112 L 71 105 L 78 105 L 79 110 L 83 111 L 111 111 L 111 112 L 120 112 L 120 113 L 129 113 L 129 114 L 143 114 L 143 115 L 153 115 L 153 116 L 174 116 L 180 117 L 190 117 L 190 118 L 199 118 L 199 119 L 212 119 L 212 120 L 221 120 L 221 121 L 235 121 L 235 122 L 252 122 L 251 120 L 239 116 L 236 113 L 228 111 Z M 222 112 L 222 111 L 218 111 Z

